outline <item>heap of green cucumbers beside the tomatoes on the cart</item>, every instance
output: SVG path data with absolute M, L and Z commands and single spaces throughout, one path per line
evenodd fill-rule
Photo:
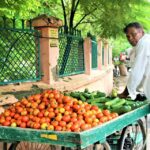
M 127 113 L 148 103 L 147 100 L 134 101 L 131 99 L 121 99 L 119 97 L 106 97 L 106 94 L 103 92 L 89 92 L 88 89 L 85 89 L 84 92 L 71 92 L 67 95 L 88 102 L 89 104 L 96 105 L 100 109 L 108 109 L 111 112 L 117 112 L 118 114 Z

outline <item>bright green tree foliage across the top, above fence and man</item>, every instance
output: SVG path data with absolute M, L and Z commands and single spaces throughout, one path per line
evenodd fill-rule
M 150 29 L 149 0 L 1 0 L 0 13 L 8 17 L 33 18 L 47 14 L 64 20 L 64 25 L 98 37 L 113 40 L 113 55 L 129 45 L 122 29 L 129 22 L 140 22 Z

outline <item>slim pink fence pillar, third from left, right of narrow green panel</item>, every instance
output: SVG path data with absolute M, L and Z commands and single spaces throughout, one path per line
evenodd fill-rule
M 102 39 L 98 39 L 97 42 L 97 52 L 98 52 L 98 58 L 97 58 L 97 63 L 98 63 L 98 70 L 102 69 Z

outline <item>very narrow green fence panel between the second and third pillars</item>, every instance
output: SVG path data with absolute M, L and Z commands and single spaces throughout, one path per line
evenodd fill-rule
M 97 69 L 97 42 L 92 39 L 92 69 Z

